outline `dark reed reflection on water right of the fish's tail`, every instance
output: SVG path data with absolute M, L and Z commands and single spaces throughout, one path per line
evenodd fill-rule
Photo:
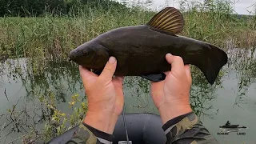
M 250 86 L 256 82 L 256 47 L 245 49 L 229 49 L 229 68 L 233 70 L 238 80 L 234 106 L 241 107 L 248 101 L 247 93 Z

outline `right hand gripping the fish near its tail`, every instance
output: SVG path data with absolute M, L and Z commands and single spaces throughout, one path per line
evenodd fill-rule
M 171 71 L 166 72 L 162 82 L 151 82 L 151 95 L 158 108 L 162 122 L 182 114 L 190 113 L 190 87 L 192 83 L 190 66 L 184 66 L 181 57 L 166 54 Z

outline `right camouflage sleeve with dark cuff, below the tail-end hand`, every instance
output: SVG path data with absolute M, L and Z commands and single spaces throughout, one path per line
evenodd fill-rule
M 166 144 L 218 143 L 194 112 L 171 119 L 162 129 L 166 134 Z

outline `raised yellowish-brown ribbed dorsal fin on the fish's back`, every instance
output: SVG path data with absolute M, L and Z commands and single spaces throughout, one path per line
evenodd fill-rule
M 184 19 L 179 10 L 174 7 L 166 7 L 155 14 L 146 25 L 171 34 L 178 34 L 183 30 Z

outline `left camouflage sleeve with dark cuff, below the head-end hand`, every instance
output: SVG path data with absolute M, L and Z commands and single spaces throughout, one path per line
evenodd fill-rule
M 94 129 L 94 127 L 86 125 L 86 123 L 82 122 L 78 126 L 78 130 L 76 130 L 74 136 L 68 142 L 66 142 L 66 144 L 111 144 L 113 142 L 113 138 L 113 135 Z

